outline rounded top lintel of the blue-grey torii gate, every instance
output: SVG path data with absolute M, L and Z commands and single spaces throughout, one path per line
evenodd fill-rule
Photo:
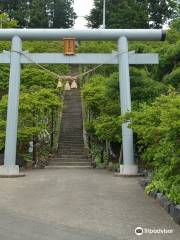
M 22 40 L 117 41 L 124 36 L 130 41 L 163 41 L 166 32 L 162 29 L 0 29 L 0 40 L 11 40 L 14 36 Z

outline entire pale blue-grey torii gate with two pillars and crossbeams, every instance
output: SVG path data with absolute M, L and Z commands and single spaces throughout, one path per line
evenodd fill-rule
M 16 143 L 18 125 L 18 105 L 21 64 L 119 64 L 119 85 L 121 113 L 131 111 L 130 64 L 158 64 L 158 54 L 135 54 L 128 52 L 128 40 L 160 41 L 166 33 L 155 29 L 1 29 L 0 40 L 12 40 L 11 52 L 0 54 L 0 64 L 10 64 L 8 111 L 4 165 L 0 166 L 1 176 L 20 176 L 16 165 Z M 22 52 L 22 40 L 63 40 L 75 38 L 81 41 L 118 41 L 118 54 L 76 54 L 65 56 L 61 53 L 25 53 Z M 122 124 L 123 165 L 122 175 L 138 173 L 134 161 L 133 132 L 128 123 Z

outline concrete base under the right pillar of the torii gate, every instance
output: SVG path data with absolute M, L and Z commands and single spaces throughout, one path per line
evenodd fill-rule
M 116 177 L 141 177 L 144 174 L 138 173 L 138 166 L 135 164 L 120 165 L 120 172 L 114 174 Z

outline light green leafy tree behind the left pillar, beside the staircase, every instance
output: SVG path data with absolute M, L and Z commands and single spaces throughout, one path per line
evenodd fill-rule
M 4 148 L 5 144 L 7 100 L 7 95 L 4 95 L 0 101 L 0 150 Z M 49 133 L 52 131 L 52 110 L 54 119 L 57 119 L 61 107 L 62 102 L 55 90 L 42 88 L 35 92 L 21 93 L 18 122 L 18 153 L 28 154 L 30 141 L 34 142 L 36 153 L 40 150 L 38 149 L 39 145 L 41 148 L 47 145 L 47 142 L 40 138 L 40 135 L 44 130 L 47 130 Z M 34 162 L 37 160 L 36 157 L 33 159 Z

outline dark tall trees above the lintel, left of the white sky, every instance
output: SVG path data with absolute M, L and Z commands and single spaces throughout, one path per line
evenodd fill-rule
M 73 0 L 0 0 L 0 10 L 15 19 L 19 27 L 69 28 L 76 14 Z

